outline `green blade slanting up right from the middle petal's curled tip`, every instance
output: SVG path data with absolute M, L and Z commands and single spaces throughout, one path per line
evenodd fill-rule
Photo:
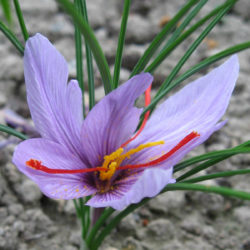
M 185 31 L 180 37 L 178 37 L 173 42 L 168 42 L 159 55 L 154 59 L 154 61 L 146 68 L 146 72 L 153 73 L 157 67 L 166 59 L 166 57 L 176 49 L 187 37 L 189 37 L 194 31 L 200 28 L 205 22 L 207 22 L 210 18 L 216 15 L 219 11 L 224 9 L 228 4 L 222 4 L 208 13 L 205 17 L 200 19 L 197 23 L 195 23 L 192 27 L 190 27 L 187 31 Z M 172 38 L 172 37 L 171 37 Z

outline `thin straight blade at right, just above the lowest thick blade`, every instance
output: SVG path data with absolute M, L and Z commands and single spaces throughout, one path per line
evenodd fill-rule
M 231 171 L 223 171 L 223 172 L 219 172 L 215 174 L 202 175 L 196 178 L 181 181 L 181 183 L 196 183 L 196 182 L 201 182 L 201 181 L 206 181 L 206 180 L 211 180 L 211 179 L 231 177 L 231 176 L 243 175 L 243 174 L 250 174 L 250 169 L 231 170 Z

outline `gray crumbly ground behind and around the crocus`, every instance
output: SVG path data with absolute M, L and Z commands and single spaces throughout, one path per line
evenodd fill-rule
M 66 57 L 70 76 L 75 77 L 75 51 L 73 26 L 68 17 L 52 0 L 20 1 L 31 34 L 46 35 Z M 164 0 L 133 0 L 128 22 L 124 51 L 122 81 L 160 30 L 160 23 L 172 17 L 185 2 Z M 199 13 L 204 16 L 219 2 L 209 0 Z M 112 68 L 116 55 L 117 34 L 122 4 L 115 0 L 87 1 L 89 18 L 96 36 Z M 230 15 L 211 32 L 183 71 L 201 59 L 250 37 L 250 1 L 240 0 Z M 16 33 L 21 38 L 18 25 Z M 195 33 L 176 50 L 157 70 L 155 85 L 169 74 L 191 42 Z M 240 77 L 226 114 L 227 125 L 214 134 L 190 156 L 236 146 L 250 139 L 250 52 L 239 54 Z M 103 96 L 100 76 L 96 70 L 97 100 Z M 202 74 L 204 74 L 202 72 Z M 197 78 L 195 75 L 192 79 Z M 0 34 L 0 122 L 4 123 L 3 110 L 10 108 L 27 118 L 22 58 L 7 39 Z M 6 135 L 0 135 L 3 144 Z M 2 145 L 1 144 L 1 145 Z M 0 249 L 64 249 L 76 250 L 80 244 L 80 226 L 75 218 L 71 201 L 54 201 L 44 197 L 37 186 L 17 171 L 11 163 L 15 145 L 0 151 Z M 217 164 L 207 172 L 248 168 L 249 155 L 240 155 Z M 220 179 L 207 184 L 250 191 L 249 176 Z M 161 195 L 124 219 L 108 237 L 105 250 L 226 250 L 250 249 L 249 202 L 228 199 L 218 195 L 194 192 L 172 192 Z

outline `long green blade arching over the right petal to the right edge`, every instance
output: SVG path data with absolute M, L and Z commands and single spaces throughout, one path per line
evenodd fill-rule
M 233 47 L 230 47 L 226 50 L 223 50 L 211 57 L 208 57 L 207 59 L 203 60 L 200 63 L 197 63 L 195 66 L 193 66 L 191 69 L 187 70 L 184 74 L 182 74 L 181 76 L 179 76 L 173 83 L 171 83 L 171 85 L 169 85 L 166 89 L 164 89 L 157 97 L 155 97 L 152 102 L 143 110 L 141 117 L 144 116 L 144 114 L 148 111 L 148 110 L 153 110 L 155 108 L 155 106 L 157 105 L 157 103 L 165 97 L 166 94 L 168 94 L 173 88 L 175 88 L 178 84 L 180 84 L 181 82 L 183 82 L 185 79 L 187 79 L 188 77 L 192 76 L 193 74 L 195 74 L 196 72 L 200 71 L 201 69 L 227 57 L 230 56 L 232 54 L 235 54 L 237 52 L 243 51 L 245 49 L 249 49 L 250 48 L 250 42 L 244 42 L 238 45 L 235 45 Z M 141 118 L 142 119 L 142 118 Z

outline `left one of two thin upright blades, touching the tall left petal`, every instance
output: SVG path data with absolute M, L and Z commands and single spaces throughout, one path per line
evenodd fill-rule
M 80 11 L 80 1 L 74 0 L 74 5 Z M 83 116 L 85 116 L 83 61 L 82 61 L 82 37 L 78 26 L 75 24 L 75 50 L 76 50 L 76 76 L 79 87 L 82 90 Z

